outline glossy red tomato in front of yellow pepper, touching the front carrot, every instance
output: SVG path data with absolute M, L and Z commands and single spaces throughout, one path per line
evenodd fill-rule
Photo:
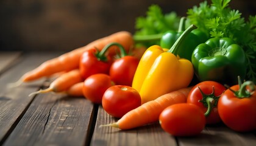
M 102 97 L 102 107 L 113 117 L 122 117 L 140 105 L 140 94 L 130 86 L 111 86 Z

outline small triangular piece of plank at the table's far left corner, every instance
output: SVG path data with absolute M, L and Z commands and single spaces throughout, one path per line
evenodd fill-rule
M 21 52 L 0 51 L 0 72 L 10 66 L 10 64 L 20 55 Z

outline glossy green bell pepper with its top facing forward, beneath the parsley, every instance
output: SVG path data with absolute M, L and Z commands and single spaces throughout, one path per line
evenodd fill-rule
M 246 55 L 231 38 L 210 38 L 199 44 L 191 57 L 199 81 L 214 80 L 236 84 L 238 75 L 246 77 Z

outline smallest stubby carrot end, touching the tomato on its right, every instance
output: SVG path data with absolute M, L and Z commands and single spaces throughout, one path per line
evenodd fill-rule
M 69 96 L 74 96 L 74 97 L 82 97 L 82 96 L 84 96 L 83 91 L 82 91 L 83 86 L 84 86 L 84 82 L 76 83 L 66 91 L 66 94 L 68 94 Z

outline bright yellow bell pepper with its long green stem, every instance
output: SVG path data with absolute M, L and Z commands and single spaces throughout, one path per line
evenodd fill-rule
M 196 28 L 194 25 L 188 27 L 167 52 L 157 45 L 144 52 L 132 82 L 132 87 L 140 93 L 142 104 L 190 85 L 193 65 L 191 61 L 179 58 L 176 52 L 184 38 Z

